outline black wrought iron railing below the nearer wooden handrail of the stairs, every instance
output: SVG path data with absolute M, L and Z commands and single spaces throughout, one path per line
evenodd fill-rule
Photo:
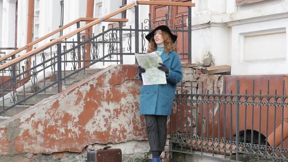
M 165 18 L 168 17 L 167 14 Z M 191 22 L 191 7 L 188 7 L 188 17 Z M 110 64 L 134 64 L 136 60 L 133 55 L 135 53 L 146 53 L 148 41 L 145 39 L 145 35 L 154 29 L 153 24 L 155 26 L 168 25 L 176 35 L 187 34 L 188 46 L 191 48 L 191 34 L 189 34 L 191 25 L 185 30 L 185 22 L 184 16 L 182 16 L 182 20 L 178 20 L 175 22 L 176 24 L 172 24 L 168 19 L 161 20 L 156 24 L 156 20 L 151 20 L 149 14 L 148 19 L 140 23 L 139 5 L 136 5 L 134 28 L 129 23 L 123 27 L 123 22 L 119 22 L 119 27 L 112 26 L 105 29 L 103 26 L 102 32 L 99 34 L 89 35 L 84 31 L 79 32 L 17 61 L 0 70 L 2 76 L 10 77 L 0 83 L 0 91 L 11 90 L 9 94 L 0 98 L 0 115 L 4 116 L 7 110 L 25 104 L 28 99 L 39 93 L 46 93 L 53 86 L 57 85 L 58 92 L 61 92 L 62 85 L 66 84 L 69 77 L 81 71 L 85 73 L 87 68 L 105 67 Z M 139 24 L 141 24 L 141 28 L 139 28 Z M 176 25 L 181 27 L 176 28 Z M 77 28 L 80 28 L 80 22 L 77 23 Z M 191 56 L 190 52 L 191 50 L 188 50 L 185 53 L 184 49 L 183 51 L 179 49 L 181 56 L 186 55 L 188 58 Z M 4 74 L 6 71 L 11 73 Z M 19 94 L 23 98 L 19 99 Z

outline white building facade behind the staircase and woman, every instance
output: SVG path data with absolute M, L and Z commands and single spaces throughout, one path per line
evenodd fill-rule
M 86 0 L 63 0 L 63 8 L 61 1 L 35 0 L 34 40 L 59 28 L 61 19 L 65 25 L 86 16 Z M 126 3 L 133 1 L 127 0 Z M 209 52 L 214 65 L 231 66 L 231 75 L 288 74 L 288 0 L 250 0 L 252 2 L 248 4 L 239 1 L 192 0 L 196 4 L 192 8 L 192 63 L 202 64 Z M 17 2 L 17 24 L 16 2 L 0 0 L 0 47 L 14 47 L 17 42 L 20 48 L 26 44 L 28 0 Z M 123 0 L 94 0 L 94 17 L 101 18 L 119 9 L 121 5 Z M 129 21 L 124 28 L 130 25 L 134 27 L 134 12 L 134 8 L 127 10 L 126 19 Z M 148 13 L 149 6 L 140 5 L 140 27 L 141 22 L 148 19 Z M 122 15 L 113 18 L 122 18 Z M 107 29 L 109 23 L 95 25 L 93 33 L 101 33 L 102 26 Z M 75 29 L 76 25 L 73 25 L 64 30 L 63 34 Z M 58 37 L 54 35 L 34 48 Z M 123 50 L 127 49 L 128 39 L 128 35 L 123 33 Z M 135 63 L 134 57 L 124 58 L 123 63 Z M 95 67 L 103 65 L 97 64 Z

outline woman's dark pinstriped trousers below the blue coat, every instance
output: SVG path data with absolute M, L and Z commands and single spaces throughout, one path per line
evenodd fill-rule
M 164 151 L 167 138 L 167 116 L 145 115 L 145 122 L 151 151 Z

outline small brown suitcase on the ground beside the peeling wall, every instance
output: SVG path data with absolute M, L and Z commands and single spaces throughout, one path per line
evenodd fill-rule
M 120 148 L 109 149 L 111 146 L 87 152 L 87 162 L 122 162 Z

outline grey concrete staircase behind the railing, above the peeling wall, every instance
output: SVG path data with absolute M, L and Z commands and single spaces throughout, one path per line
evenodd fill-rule
M 94 74 L 98 71 L 100 71 L 101 69 L 91 69 L 91 70 L 85 70 L 81 71 L 75 75 L 72 75 L 71 77 L 69 77 L 68 79 L 66 79 L 66 81 L 62 81 L 62 90 L 68 88 L 69 86 L 71 86 L 72 84 L 81 81 L 82 79 L 89 77 L 91 74 Z M 69 75 L 73 73 L 73 71 L 68 71 L 65 72 L 65 75 Z M 56 76 L 57 76 L 57 72 L 56 72 Z M 64 76 L 64 72 L 62 72 L 62 77 Z M 47 77 L 49 78 L 49 76 Z M 53 81 L 47 81 L 47 79 L 45 80 L 45 86 L 52 84 Z M 27 86 L 26 86 L 27 84 Z M 31 93 L 31 83 L 29 85 L 29 82 L 25 84 L 25 94 L 23 93 L 23 90 L 20 89 L 18 90 L 17 94 L 16 94 L 16 99 L 17 101 L 21 101 L 22 99 L 24 99 L 24 95 L 27 98 L 28 96 L 32 95 L 33 93 Z M 44 81 L 41 80 L 37 83 L 37 85 L 39 86 L 39 90 L 42 89 L 44 87 Z M 15 107 L 13 107 L 12 109 L 9 109 L 8 111 L 6 111 L 4 114 L 0 114 L 0 122 L 1 121 L 5 121 L 7 119 L 9 119 L 10 117 L 20 113 L 21 111 L 26 110 L 27 108 L 37 104 L 38 102 L 45 100 L 55 94 L 58 93 L 58 85 L 55 84 L 52 87 L 48 88 L 47 90 L 45 90 L 45 92 L 41 92 L 39 94 L 37 94 L 36 96 L 28 99 L 25 102 L 22 102 L 20 105 L 17 105 Z M 5 99 L 4 99 L 4 109 L 13 105 L 13 101 L 12 97 L 9 94 L 5 95 Z M 3 110 L 3 101 L 2 98 L 0 99 L 0 110 Z

